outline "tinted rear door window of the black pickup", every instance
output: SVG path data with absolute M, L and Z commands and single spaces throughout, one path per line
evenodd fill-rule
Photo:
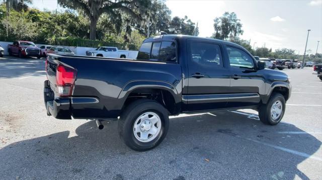
M 196 66 L 203 68 L 222 67 L 219 45 L 211 43 L 191 42 L 191 59 Z

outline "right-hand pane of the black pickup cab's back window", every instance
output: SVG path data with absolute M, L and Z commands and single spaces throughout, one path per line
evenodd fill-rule
M 159 53 L 159 61 L 176 62 L 176 43 L 163 41 Z

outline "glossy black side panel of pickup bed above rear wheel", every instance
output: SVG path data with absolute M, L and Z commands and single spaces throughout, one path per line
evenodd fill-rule
M 181 97 L 179 64 L 78 57 L 61 58 L 59 61 L 77 70 L 72 97 L 95 97 L 99 100 L 99 103 L 72 104 L 74 118 L 115 118 L 132 90 L 158 88 L 155 82 L 172 86 L 180 95 L 177 97 Z

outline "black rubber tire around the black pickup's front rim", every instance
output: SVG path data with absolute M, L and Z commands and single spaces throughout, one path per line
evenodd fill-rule
M 279 100 L 282 103 L 282 112 L 281 112 L 280 116 L 274 120 L 271 117 L 271 108 L 272 108 L 273 103 L 275 103 L 277 100 Z M 284 96 L 280 93 L 272 93 L 267 104 L 262 104 L 259 107 L 258 115 L 260 117 L 260 120 L 264 124 L 276 125 L 282 120 L 282 118 L 284 116 L 285 108 L 286 108 L 286 106 L 285 106 Z

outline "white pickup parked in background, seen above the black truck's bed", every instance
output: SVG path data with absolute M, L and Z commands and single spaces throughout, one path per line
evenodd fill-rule
M 129 53 L 118 50 L 116 47 L 99 47 L 96 50 L 86 51 L 87 56 L 108 57 L 108 58 L 127 58 Z

